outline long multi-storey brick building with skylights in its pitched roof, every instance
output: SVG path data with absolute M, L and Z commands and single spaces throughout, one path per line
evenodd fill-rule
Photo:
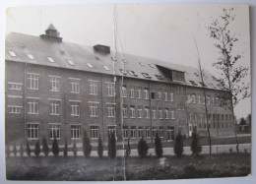
M 206 72 L 206 101 L 197 69 L 62 41 L 50 25 L 45 34 L 6 37 L 6 142 L 67 139 L 107 142 L 171 141 L 193 127 L 212 136 L 233 131 L 230 105 Z

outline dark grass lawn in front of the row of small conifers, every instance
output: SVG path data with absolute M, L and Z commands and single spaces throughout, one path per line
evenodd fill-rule
M 249 153 L 204 154 L 182 157 L 7 157 L 9 180 L 154 180 L 246 176 Z

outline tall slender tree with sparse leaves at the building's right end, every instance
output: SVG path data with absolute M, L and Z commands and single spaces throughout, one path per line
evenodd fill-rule
M 230 101 L 230 108 L 232 112 L 232 121 L 235 125 L 234 106 L 239 100 L 250 96 L 249 84 L 245 84 L 243 79 L 247 76 L 248 67 L 240 65 L 242 55 L 237 54 L 233 49 L 235 43 L 238 41 L 236 35 L 230 31 L 230 24 L 234 21 L 235 15 L 233 8 L 223 9 L 223 14 L 212 20 L 211 26 L 207 29 L 210 31 L 210 36 L 216 40 L 214 45 L 219 52 L 219 59 L 213 64 L 221 75 L 219 78 L 214 78 L 219 88 L 224 91 L 222 98 Z M 236 152 L 239 153 L 239 143 L 234 127 Z

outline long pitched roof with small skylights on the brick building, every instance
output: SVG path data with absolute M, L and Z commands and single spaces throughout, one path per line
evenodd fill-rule
M 50 25 L 48 29 L 55 29 L 51 26 L 52 25 Z M 16 56 L 12 56 L 10 51 L 15 52 Z M 32 54 L 33 59 L 30 59 L 27 54 Z M 40 36 L 16 32 L 11 32 L 6 36 L 5 59 L 7 61 L 116 76 L 122 76 L 124 71 L 124 76 L 128 78 L 202 87 L 202 85 L 200 85 L 200 79 L 196 75 L 197 69 L 193 67 L 118 52 L 115 54 L 114 52 L 110 52 L 110 54 L 100 54 L 95 51 L 94 47 L 65 41 L 56 42 L 43 39 Z M 168 76 L 162 73 L 159 66 L 169 71 L 184 72 L 185 82 L 173 82 Z M 133 76 L 132 74 L 136 75 Z M 208 71 L 205 71 L 205 75 L 207 78 L 207 88 L 216 90 L 217 85 L 212 78 L 213 75 Z M 195 83 L 191 83 L 191 81 Z

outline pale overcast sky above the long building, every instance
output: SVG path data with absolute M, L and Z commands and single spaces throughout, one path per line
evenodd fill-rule
M 242 62 L 250 64 L 248 8 L 232 5 L 235 20 L 231 31 L 239 38 L 235 50 L 243 52 Z M 105 44 L 125 53 L 157 58 L 166 62 L 195 66 L 197 41 L 205 69 L 217 74 L 212 63 L 218 52 L 206 27 L 211 17 L 221 15 L 228 5 L 118 4 L 7 9 L 6 32 L 39 35 L 51 23 L 63 41 L 93 46 Z M 114 11 L 115 10 L 115 11 Z M 115 17 L 113 16 L 115 15 Z M 115 23 L 115 24 L 114 24 Z M 249 78 L 248 78 L 249 82 Z M 250 113 L 250 99 L 235 108 L 237 117 Z

